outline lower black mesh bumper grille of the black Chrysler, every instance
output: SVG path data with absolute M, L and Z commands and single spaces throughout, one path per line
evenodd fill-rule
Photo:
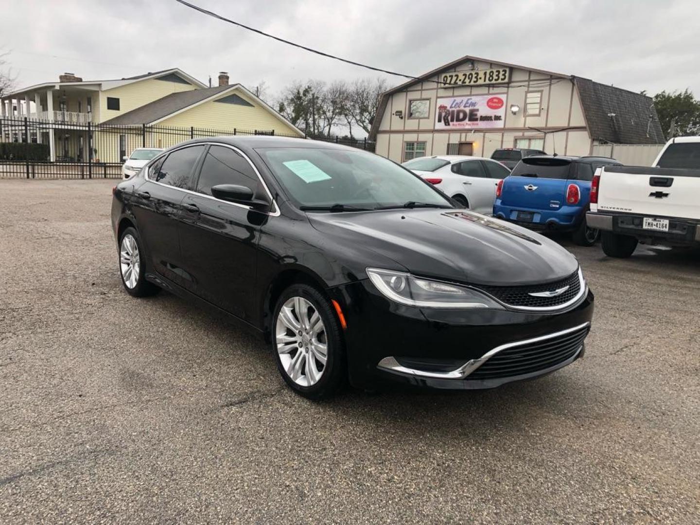
M 487 359 L 467 379 L 496 379 L 531 374 L 563 363 L 580 350 L 590 325 L 558 337 L 510 346 Z

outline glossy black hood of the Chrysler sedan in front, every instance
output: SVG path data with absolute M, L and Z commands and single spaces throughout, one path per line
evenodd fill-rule
M 518 286 L 557 281 L 578 267 L 575 257 L 554 241 L 471 211 L 399 209 L 308 216 L 316 230 L 345 246 L 361 244 L 413 274 L 435 279 Z

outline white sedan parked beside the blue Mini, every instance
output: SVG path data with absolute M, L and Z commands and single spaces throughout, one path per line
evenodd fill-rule
M 493 213 L 498 181 L 510 175 L 500 162 L 466 155 L 419 157 L 402 164 L 435 184 L 463 207 L 480 214 Z

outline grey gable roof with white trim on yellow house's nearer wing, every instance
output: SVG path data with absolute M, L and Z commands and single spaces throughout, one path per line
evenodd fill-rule
M 106 120 L 102 124 L 123 126 L 158 124 L 160 120 L 165 120 L 166 118 L 176 115 L 176 113 L 186 111 L 199 104 L 204 104 L 204 102 L 209 102 L 210 100 L 213 100 L 214 102 L 219 102 L 219 100 L 221 99 L 217 99 L 217 97 L 233 90 L 239 90 L 239 92 L 246 95 L 246 97 L 248 97 L 249 99 L 252 99 L 253 102 L 258 104 L 258 106 L 260 106 L 262 109 L 265 109 L 269 113 L 272 113 L 272 115 L 278 120 L 280 120 L 282 123 L 288 125 L 288 127 L 290 127 L 291 129 L 296 130 L 296 132 L 299 133 L 300 136 L 304 135 L 304 132 L 302 132 L 302 130 L 290 123 L 289 120 L 281 116 L 277 111 L 274 111 L 274 109 L 272 109 L 272 107 L 265 103 L 265 101 L 263 101 L 259 97 L 256 97 L 253 93 L 248 91 L 246 87 L 244 87 L 244 85 L 241 84 L 222 85 L 218 87 L 208 87 L 203 90 L 190 90 L 171 93 L 158 100 L 154 100 L 153 102 L 144 104 L 144 106 L 132 109 L 132 111 L 127 111 L 126 113 L 123 113 L 120 116 L 116 116 L 115 118 Z M 234 104 L 254 107 L 253 104 L 250 104 L 245 99 L 239 97 L 236 94 L 232 94 L 228 97 L 223 98 L 230 99 L 230 97 L 237 97 L 238 99 L 240 99 L 241 102 L 245 103 L 241 104 L 240 102 L 234 102 Z M 229 104 L 230 103 L 231 102 L 229 102 Z

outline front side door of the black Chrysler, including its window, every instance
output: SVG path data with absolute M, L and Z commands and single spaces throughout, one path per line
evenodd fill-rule
M 267 199 L 251 162 L 236 148 L 211 145 L 201 163 L 195 192 L 183 201 L 179 223 L 183 265 L 190 291 L 240 318 L 251 317 L 260 225 L 267 214 L 211 195 L 218 184 L 251 188 Z

